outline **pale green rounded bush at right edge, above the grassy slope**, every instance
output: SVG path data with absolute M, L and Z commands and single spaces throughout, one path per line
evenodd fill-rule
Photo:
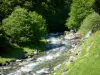
M 86 33 L 88 33 L 88 31 L 90 31 L 90 30 L 92 32 L 100 30 L 100 15 L 95 12 L 88 15 L 84 19 L 84 21 L 81 24 L 81 27 L 79 29 L 79 33 L 83 36 Z

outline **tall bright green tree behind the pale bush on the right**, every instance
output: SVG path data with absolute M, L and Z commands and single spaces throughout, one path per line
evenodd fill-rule
M 94 2 L 95 0 L 73 0 L 66 26 L 78 30 L 83 19 L 93 12 Z

